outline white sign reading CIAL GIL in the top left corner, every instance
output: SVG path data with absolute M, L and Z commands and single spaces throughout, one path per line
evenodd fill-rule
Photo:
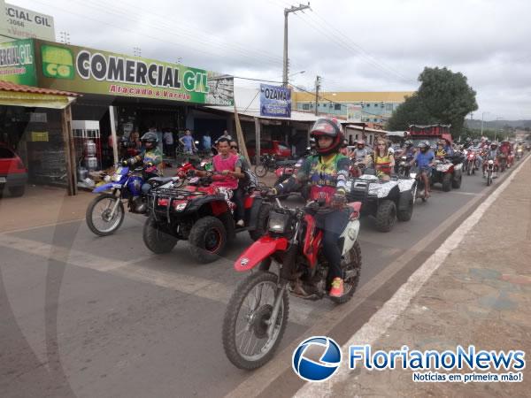
M 50 15 L 6 4 L 4 0 L 0 0 L 0 12 L 3 10 L 4 17 L 0 18 L 2 34 L 20 39 L 37 38 L 51 41 L 56 39 L 53 17 Z

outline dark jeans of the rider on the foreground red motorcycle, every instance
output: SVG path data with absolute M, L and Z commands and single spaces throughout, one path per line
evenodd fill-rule
M 315 216 L 317 227 L 323 231 L 323 254 L 328 262 L 328 283 L 334 278 L 343 279 L 341 268 L 342 253 L 339 249 L 339 237 L 343 233 L 345 226 L 349 223 L 348 210 L 335 210 L 327 214 Z

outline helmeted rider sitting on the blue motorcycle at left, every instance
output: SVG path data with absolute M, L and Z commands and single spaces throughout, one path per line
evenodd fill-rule
M 152 177 L 162 176 L 162 172 L 158 169 L 158 165 L 162 163 L 162 152 L 158 149 L 158 135 L 154 132 L 147 132 L 142 135 L 142 150 L 135 157 L 131 157 L 123 162 L 123 165 L 135 165 L 142 162 L 144 167 L 143 177 L 146 182 L 142 184 L 142 194 L 147 194 L 150 191 L 150 184 L 147 182 Z M 140 195 L 133 196 L 133 203 L 135 203 L 136 211 L 142 212 L 143 203 L 140 201 Z

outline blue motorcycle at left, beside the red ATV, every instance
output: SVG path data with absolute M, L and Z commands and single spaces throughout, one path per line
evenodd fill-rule
M 157 188 L 172 178 L 153 177 L 148 180 L 151 188 Z M 119 166 L 112 175 L 105 176 L 105 184 L 92 192 L 98 195 L 89 203 L 85 218 L 90 231 L 106 236 L 114 233 L 125 218 L 124 201 L 132 213 L 145 214 L 146 204 L 142 195 L 145 182 L 145 168 Z

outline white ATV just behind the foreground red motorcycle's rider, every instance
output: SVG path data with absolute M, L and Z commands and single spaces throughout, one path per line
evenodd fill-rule
M 389 232 L 399 221 L 409 221 L 413 214 L 417 181 L 410 177 L 391 176 L 380 180 L 372 171 L 347 181 L 349 202 L 361 202 L 362 214 L 376 218 L 376 229 Z

